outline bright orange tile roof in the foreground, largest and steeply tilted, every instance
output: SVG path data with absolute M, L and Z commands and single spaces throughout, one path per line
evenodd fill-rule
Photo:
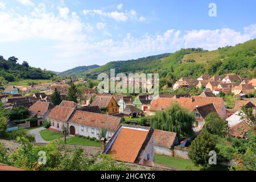
M 115 160 L 134 163 L 146 139 L 148 130 L 122 127 L 108 154 Z

